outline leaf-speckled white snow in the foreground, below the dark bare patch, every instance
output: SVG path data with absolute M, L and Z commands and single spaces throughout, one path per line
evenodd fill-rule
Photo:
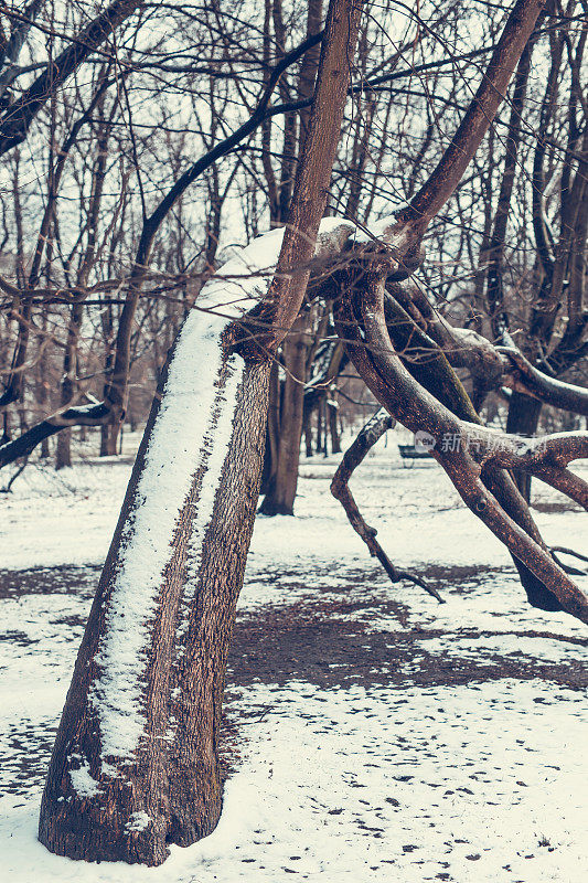
M 245 726 L 247 755 L 211 837 L 172 848 L 160 869 L 84 864 L 35 842 L 36 805 L 21 806 L 0 818 L 12 834 L 2 847 L 10 880 L 586 879 L 580 696 L 510 680 L 396 692 L 291 682 L 247 693 L 244 711 L 271 711 Z

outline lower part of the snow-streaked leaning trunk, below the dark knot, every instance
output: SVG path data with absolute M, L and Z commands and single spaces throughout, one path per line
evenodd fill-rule
M 221 812 L 223 679 L 269 365 L 224 357 L 209 371 L 209 352 L 192 372 L 189 332 L 156 397 L 43 795 L 40 839 L 70 858 L 159 864 Z

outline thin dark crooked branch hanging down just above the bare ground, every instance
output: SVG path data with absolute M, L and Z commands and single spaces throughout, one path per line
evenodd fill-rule
M 353 530 L 360 534 L 372 557 L 376 557 L 393 583 L 399 583 L 402 579 L 407 579 L 410 583 L 416 583 L 437 598 L 439 604 L 445 604 L 443 598 L 439 593 L 432 588 L 421 576 L 417 576 L 409 571 L 396 567 L 388 558 L 382 546 L 376 540 L 377 531 L 366 524 L 362 513 L 359 510 L 353 494 L 349 487 L 349 481 L 355 469 L 363 462 L 366 454 L 371 450 L 376 442 L 378 442 L 385 432 L 392 429 L 396 421 L 392 417 L 385 408 L 379 408 L 373 417 L 371 417 L 363 429 L 360 432 L 355 440 L 348 448 L 343 455 L 336 472 L 331 481 L 331 493 L 339 500 L 345 514 L 349 518 L 350 524 Z

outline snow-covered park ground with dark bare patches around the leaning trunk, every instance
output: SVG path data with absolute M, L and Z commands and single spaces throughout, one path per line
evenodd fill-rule
M 392 586 L 329 493 L 335 459 L 303 462 L 295 519 L 257 521 L 228 678 L 239 757 L 223 817 L 154 870 L 81 865 L 35 840 L 54 727 L 130 466 L 32 465 L 18 479 L 0 522 L 8 879 L 588 879 L 586 627 L 530 608 L 503 546 L 434 462 L 402 468 L 391 433 L 353 489 L 391 557 L 447 603 Z M 547 542 L 586 553 L 585 517 L 537 490 Z

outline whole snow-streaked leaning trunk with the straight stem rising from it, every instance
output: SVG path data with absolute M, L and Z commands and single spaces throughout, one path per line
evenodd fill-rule
M 168 843 L 188 845 L 218 819 L 223 680 L 271 357 L 300 311 L 313 254 L 339 253 L 353 227 L 327 219 L 319 233 L 360 15 L 360 3 L 331 0 L 288 226 L 202 290 L 156 396 L 43 794 L 39 836 L 58 854 L 159 864 Z

